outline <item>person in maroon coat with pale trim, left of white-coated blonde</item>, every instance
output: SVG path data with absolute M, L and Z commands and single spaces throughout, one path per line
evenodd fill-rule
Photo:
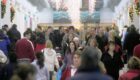
M 24 32 L 24 38 L 20 39 L 16 43 L 16 56 L 20 61 L 32 62 L 35 59 L 34 47 L 29 40 L 31 33 L 29 31 Z

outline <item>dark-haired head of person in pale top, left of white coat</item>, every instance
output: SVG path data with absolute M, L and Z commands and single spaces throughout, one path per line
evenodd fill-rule
M 37 64 L 39 65 L 40 68 L 42 68 L 44 66 L 44 54 L 43 54 L 43 52 L 37 52 L 36 58 L 37 58 Z

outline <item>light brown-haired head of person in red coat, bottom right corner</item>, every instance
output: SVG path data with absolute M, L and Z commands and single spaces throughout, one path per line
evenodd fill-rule
M 140 59 L 135 56 L 131 57 L 128 61 L 128 68 L 140 70 Z

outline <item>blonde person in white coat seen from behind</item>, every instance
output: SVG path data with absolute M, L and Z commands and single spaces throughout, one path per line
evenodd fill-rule
M 50 80 L 52 80 L 54 74 L 54 68 L 56 66 L 59 69 L 59 62 L 57 59 L 56 51 L 53 49 L 53 44 L 50 40 L 46 41 L 46 48 L 42 50 L 45 57 L 45 64 L 47 65 L 48 71 L 50 73 Z

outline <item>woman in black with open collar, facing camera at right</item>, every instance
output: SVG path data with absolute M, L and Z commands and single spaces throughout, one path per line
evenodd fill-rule
M 107 74 L 118 80 L 119 70 L 123 67 L 121 55 L 115 51 L 115 42 L 109 42 L 109 49 L 103 53 L 101 61 L 104 63 Z

